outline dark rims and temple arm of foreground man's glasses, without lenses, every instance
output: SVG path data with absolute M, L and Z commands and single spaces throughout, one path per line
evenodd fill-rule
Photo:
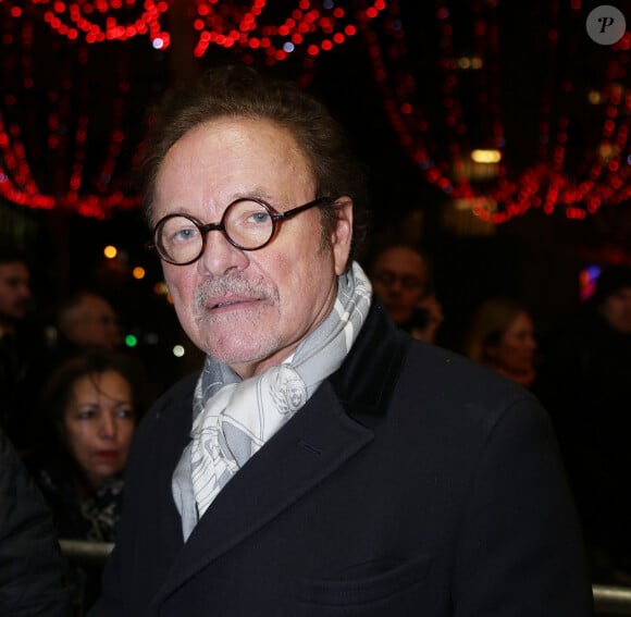
M 261 206 L 270 215 L 270 219 L 272 221 L 272 233 L 270 234 L 270 237 L 261 246 L 257 246 L 255 248 L 246 248 L 245 246 L 242 246 L 238 243 L 236 243 L 235 240 L 233 240 L 230 237 L 230 235 L 225 229 L 225 221 L 226 221 L 228 212 L 231 211 L 232 208 L 234 208 L 237 203 L 240 203 L 242 201 L 253 201 L 255 203 L 258 203 L 259 206 Z M 156 225 L 153 226 L 153 230 L 151 231 L 151 237 L 153 238 L 153 240 L 148 242 L 145 245 L 145 248 L 147 248 L 148 250 L 154 250 L 158 254 L 158 257 L 162 261 L 166 261 L 166 263 L 171 263 L 173 266 L 189 266 L 190 263 L 195 263 L 202 256 L 203 251 L 206 250 L 206 238 L 207 238 L 208 234 L 210 232 L 218 231 L 218 232 L 221 232 L 223 234 L 225 239 L 232 246 L 234 246 L 235 248 L 238 248 L 239 250 L 247 250 L 247 251 L 259 250 L 259 249 L 268 246 L 274 239 L 274 237 L 276 236 L 276 234 L 279 232 L 279 224 L 282 223 L 283 221 L 292 219 L 296 214 L 299 214 L 300 212 L 305 212 L 305 210 L 309 210 L 310 208 L 313 208 L 316 206 L 321 206 L 323 203 L 333 203 L 334 201 L 335 201 L 335 199 L 332 197 L 318 197 L 317 199 L 313 199 L 312 201 L 308 201 L 307 203 L 302 203 L 302 206 L 297 206 L 296 208 L 292 208 L 290 210 L 286 210 L 285 212 L 279 212 L 273 206 L 270 206 L 267 201 L 263 201 L 262 199 L 258 199 L 255 197 L 243 197 L 239 199 L 235 199 L 234 201 L 232 201 L 231 203 L 227 205 L 226 209 L 223 211 L 223 214 L 221 217 L 221 221 L 219 223 L 206 223 L 206 224 L 200 223 L 195 217 L 191 217 L 190 214 L 184 214 L 181 212 L 173 212 L 172 214 L 166 214 L 166 217 L 163 217 L 162 219 L 160 219 L 158 221 L 158 223 L 156 223 Z M 160 245 L 157 242 L 157 235 L 158 235 L 158 232 L 161 229 L 161 226 L 164 225 L 165 221 L 169 221 L 170 219 L 174 219 L 175 217 L 182 217 L 184 219 L 187 219 L 199 230 L 199 233 L 201 234 L 201 247 L 199 249 L 199 252 L 197 254 L 197 256 L 194 259 L 190 259 L 188 261 L 180 262 L 180 261 L 173 261 L 173 260 L 169 259 L 166 256 L 162 255 L 162 252 L 160 250 Z

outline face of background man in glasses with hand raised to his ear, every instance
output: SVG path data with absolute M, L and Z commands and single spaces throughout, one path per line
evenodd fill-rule
M 372 269 L 374 293 L 397 325 L 412 320 L 428 293 L 428 268 L 421 256 L 406 247 L 384 250 Z

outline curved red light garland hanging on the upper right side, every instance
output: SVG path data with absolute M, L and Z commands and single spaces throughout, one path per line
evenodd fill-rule
M 374 78 L 383 95 L 384 108 L 403 147 L 419 166 L 423 176 L 438 186 L 450 198 L 468 202 L 480 218 L 503 223 L 522 215 L 531 208 L 552 214 L 560 208 L 570 219 L 581 219 L 596 212 L 603 205 L 621 203 L 631 198 L 631 150 L 629 123 L 631 118 L 631 89 L 621 84 L 628 82 L 629 49 L 631 34 L 611 46 L 610 57 L 604 71 L 605 78 L 598 88 L 603 118 L 599 137 L 587 144 L 583 161 L 570 168 L 567 146 L 572 122 L 569 109 L 553 110 L 553 100 L 565 101 L 574 95 L 574 81 L 570 75 L 559 78 L 559 0 L 550 2 L 548 28 L 548 75 L 541 94 L 539 157 L 522 171 L 511 166 L 507 149 L 503 113 L 499 106 L 498 58 L 500 54 L 495 1 L 473 1 L 473 38 L 483 70 L 484 87 L 479 88 L 479 118 L 484 119 L 487 133 L 483 137 L 488 146 L 498 151 L 492 182 L 484 178 L 477 183 L 462 173 L 472 153 L 470 127 L 462 112 L 459 88 L 458 54 L 454 42 L 451 10 L 456 7 L 447 0 L 435 2 L 435 29 L 438 33 L 436 72 L 440 75 L 443 118 L 441 121 L 428 112 L 422 102 L 417 79 L 423 78 L 410 67 L 408 39 L 396 0 L 388 2 L 383 35 L 375 28 L 363 28 L 373 64 Z M 571 1 L 573 30 L 566 32 L 567 49 L 576 53 L 577 33 L 582 33 L 581 1 Z M 424 76 L 424 84 L 432 83 Z M 561 97 L 558 90 L 561 90 Z M 585 103 L 586 104 L 586 103 Z M 559 106 L 557 104 L 557 108 Z M 553 128 L 553 124 L 555 125 Z M 446 147 L 440 148 L 444 141 Z

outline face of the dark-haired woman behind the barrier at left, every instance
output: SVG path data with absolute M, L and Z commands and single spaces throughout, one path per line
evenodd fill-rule
M 63 419 L 67 448 L 92 486 L 121 472 L 135 428 L 132 388 L 109 370 L 79 378 Z

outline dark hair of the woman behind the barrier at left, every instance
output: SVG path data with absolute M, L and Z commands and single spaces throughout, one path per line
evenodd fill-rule
M 74 384 L 84 377 L 113 371 L 120 374 L 132 391 L 132 404 L 136 418 L 140 414 L 140 394 L 135 373 L 125 356 L 104 350 L 83 351 L 63 361 L 51 374 L 40 395 L 40 420 L 37 443 L 40 449 L 67 455 L 62 437 L 65 410 L 70 404 Z

